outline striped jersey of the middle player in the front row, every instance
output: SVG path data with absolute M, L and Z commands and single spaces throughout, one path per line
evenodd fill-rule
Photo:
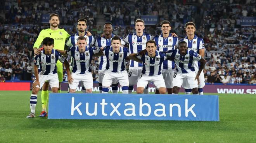
M 114 53 L 112 46 L 106 46 L 104 48 L 103 54 L 107 58 L 106 70 L 109 72 L 121 72 L 126 70 L 125 58 L 130 56 L 127 47 L 120 47 L 118 54 Z

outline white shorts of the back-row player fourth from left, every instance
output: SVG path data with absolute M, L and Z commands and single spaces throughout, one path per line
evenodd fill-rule
M 129 68 L 128 79 L 129 79 L 130 85 L 134 86 L 135 84 L 137 84 L 141 71 L 142 71 L 142 67 Z

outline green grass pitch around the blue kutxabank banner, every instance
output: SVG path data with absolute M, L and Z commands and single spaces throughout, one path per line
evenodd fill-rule
M 220 121 L 26 119 L 29 91 L 0 91 L 0 142 L 256 142 L 255 94 L 220 94 Z M 39 93 L 38 95 L 40 95 Z M 36 116 L 42 105 L 38 96 Z

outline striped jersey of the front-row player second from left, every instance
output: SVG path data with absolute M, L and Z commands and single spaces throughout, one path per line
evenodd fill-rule
M 78 46 L 73 46 L 67 50 L 67 55 L 73 57 L 73 70 L 77 74 L 86 74 L 91 72 L 90 64 L 92 56 L 100 52 L 98 47 L 85 47 L 85 52 L 80 53 Z

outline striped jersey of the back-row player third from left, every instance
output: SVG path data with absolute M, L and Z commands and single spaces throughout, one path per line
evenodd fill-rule
M 112 34 L 111 35 L 111 39 L 112 37 L 114 37 L 115 35 Z M 106 39 L 103 35 L 103 37 L 97 37 L 97 39 L 95 40 L 94 46 L 95 47 L 106 47 L 106 46 L 111 46 L 111 39 Z M 125 45 L 125 42 L 121 39 L 121 45 Z M 107 64 L 107 58 L 106 56 L 100 56 L 99 58 L 99 71 L 101 70 L 105 70 L 106 69 L 106 64 Z

